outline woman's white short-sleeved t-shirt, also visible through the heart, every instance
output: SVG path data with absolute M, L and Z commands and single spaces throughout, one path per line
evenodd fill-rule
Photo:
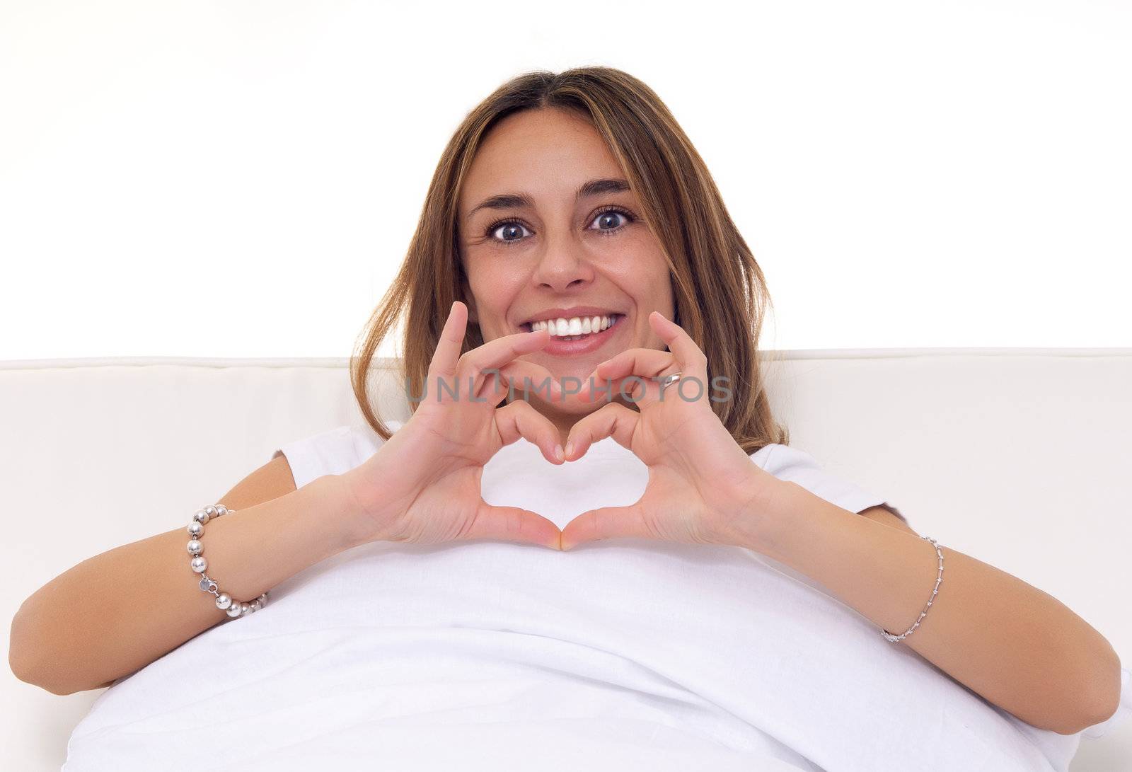
M 302 487 L 380 444 L 344 426 L 276 455 Z M 847 517 L 884 503 L 796 448 L 751 457 Z M 646 480 L 611 438 L 561 466 L 520 439 L 482 489 L 563 527 L 632 504 Z M 114 684 L 63 769 L 1006 772 L 1065 770 L 1077 741 L 989 705 L 752 550 L 375 542 Z

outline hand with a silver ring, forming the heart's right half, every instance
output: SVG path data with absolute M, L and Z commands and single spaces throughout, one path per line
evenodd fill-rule
M 758 517 L 760 503 L 778 482 L 744 453 L 712 411 L 707 358 L 700 346 L 658 311 L 649 323 L 669 350 L 623 351 L 598 366 L 582 393 L 583 398 L 602 394 L 600 388 L 590 392 L 592 381 L 608 384 L 610 393 L 624 387 L 641 412 L 610 402 L 577 421 L 566 443 L 566 461 L 575 461 L 593 443 L 612 437 L 649 466 L 649 484 L 635 504 L 572 520 L 563 529 L 564 550 L 618 537 L 739 544 L 749 541 L 743 534 L 755 530 L 751 520 Z M 680 379 L 662 397 L 659 379 L 674 372 Z

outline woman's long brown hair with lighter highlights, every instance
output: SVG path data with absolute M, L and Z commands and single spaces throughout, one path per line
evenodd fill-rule
M 710 383 L 724 377 L 731 389 L 730 400 L 711 403 L 720 421 L 748 454 L 771 443 L 788 444 L 787 428 L 771 414 L 760 364 L 758 335 L 771 306 L 763 272 L 668 108 L 644 83 L 610 67 L 518 75 L 456 129 L 432 174 L 401 271 L 350 358 L 351 384 L 367 423 L 389 438 L 368 387 L 375 353 L 397 321 L 405 323 L 400 380 L 410 394 L 421 394 L 448 309 L 455 300 L 468 303 L 456 203 L 477 149 L 505 117 L 546 108 L 589 120 L 621 166 L 671 272 L 675 321 L 707 357 Z M 482 344 L 479 326 L 469 323 L 463 351 Z M 410 409 L 415 404 L 410 402 Z

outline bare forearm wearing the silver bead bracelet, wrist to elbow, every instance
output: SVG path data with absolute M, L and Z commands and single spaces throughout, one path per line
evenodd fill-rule
M 205 573 L 222 592 L 251 600 L 350 547 L 336 523 L 352 506 L 332 474 L 213 518 L 201 539 Z M 11 624 L 15 675 L 54 694 L 98 688 L 224 621 L 189 567 L 190 515 L 174 516 L 185 521 L 174 530 L 84 560 L 25 600 Z

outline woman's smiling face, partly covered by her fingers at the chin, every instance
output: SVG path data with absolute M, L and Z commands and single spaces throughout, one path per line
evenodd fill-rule
M 552 323 L 550 343 L 522 359 L 556 381 L 585 381 L 626 349 L 664 350 L 649 314 L 674 316 L 669 271 L 627 188 L 600 135 L 571 113 L 528 110 L 491 130 L 458 201 L 470 321 L 484 342 Z M 580 413 L 603 403 L 554 406 Z

